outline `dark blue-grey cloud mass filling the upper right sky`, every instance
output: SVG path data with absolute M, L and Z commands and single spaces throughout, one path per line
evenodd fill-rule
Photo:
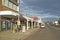
M 60 11 L 60 0 L 23 0 L 30 8 L 34 10 L 46 10 L 51 14 Z M 46 12 L 47 12 L 46 11 Z M 56 14 L 56 13 L 53 13 Z M 58 13 L 59 14 L 59 13 Z M 60 14 L 59 14 L 60 15 Z

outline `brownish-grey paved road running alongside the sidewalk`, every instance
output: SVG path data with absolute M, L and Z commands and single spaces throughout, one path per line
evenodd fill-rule
M 38 30 L 24 40 L 60 40 L 60 30 L 52 27 Z

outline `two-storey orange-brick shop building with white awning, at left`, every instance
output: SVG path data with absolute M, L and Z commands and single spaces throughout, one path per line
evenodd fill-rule
M 19 0 L 0 0 L 0 31 L 13 29 L 19 14 Z

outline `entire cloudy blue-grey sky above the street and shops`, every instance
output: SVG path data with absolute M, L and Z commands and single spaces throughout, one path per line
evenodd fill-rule
M 29 16 L 38 16 L 44 21 L 58 20 L 60 0 L 20 0 L 20 11 Z

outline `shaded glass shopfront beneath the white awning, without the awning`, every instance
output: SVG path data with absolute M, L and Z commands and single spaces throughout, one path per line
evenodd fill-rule
M 10 20 L 5 19 L 1 21 L 1 31 L 9 30 L 11 29 L 11 26 L 12 22 Z

